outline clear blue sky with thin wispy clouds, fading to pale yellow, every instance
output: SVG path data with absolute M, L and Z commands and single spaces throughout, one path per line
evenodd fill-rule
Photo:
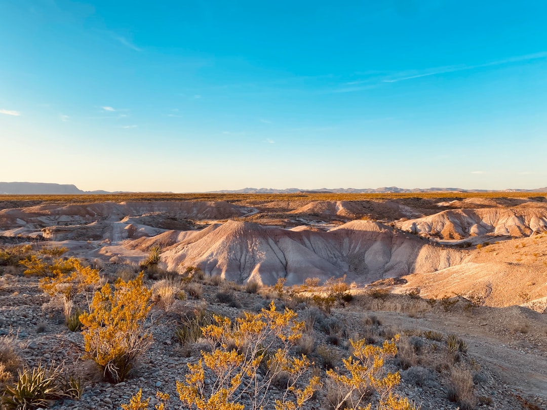
M 0 180 L 546 186 L 546 15 L 543 0 L 3 0 Z

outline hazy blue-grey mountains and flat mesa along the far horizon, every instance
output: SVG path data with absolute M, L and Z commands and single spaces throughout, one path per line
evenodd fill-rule
M 119 194 L 127 191 L 82 191 L 73 184 L 48 184 L 38 182 L 0 182 L 0 195 L 92 195 L 92 194 Z M 405 189 L 397 186 L 383 186 L 382 188 L 321 188 L 321 189 L 274 189 L 274 188 L 243 188 L 238 190 L 208 191 L 205 194 L 404 194 L 412 192 L 547 192 L 547 186 L 538 189 L 462 189 L 462 188 L 414 188 Z

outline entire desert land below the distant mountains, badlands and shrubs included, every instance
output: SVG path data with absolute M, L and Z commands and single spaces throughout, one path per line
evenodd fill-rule
M 545 197 L 321 195 L 4 198 L 3 408 L 547 408 Z

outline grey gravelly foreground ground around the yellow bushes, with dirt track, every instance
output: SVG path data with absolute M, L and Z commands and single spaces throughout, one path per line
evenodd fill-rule
M 106 266 L 103 273 L 112 279 L 118 266 Z M 267 294 L 248 294 L 232 290 L 230 303 L 218 300 L 218 286 L 203 285 L 199 298 L 178 301 L 169 312 L 153 307 L 147 326 L 153 333 L 152 346 L 139 359 L 131 378 L 110 384 L 102 379 L 94 362 L 85 358 L 83 337 L 71 332 L 62 314 L 55 311 L 49 296 L 37 286 L 38 279 L 25 277 L 20 270 L 4 273 L 0 288 L 0 337 L 13 340 L 27 366 L 39 362 L 62 364 L 67 371 L 82 379 L 85 386 L 79 401 L 57 402 L 55 409 L 118 409 L 139 389 L 144 396 L 164 391 L 174 399 L 167 408 L 184 408 L 178 400 L 175 380 L 184 380 L 187 364 L 195 363 L 204 344 L 182 347 L 174 336 L 181 315 L 197 306 L 232 319 L 243 310 L 257 311 L 270 301 Z M 150 281 L 148 285 L 153 285 Z M 426 409 L 456 409 L 458 404 L 448 399 L 451 373 L 462 369 L 472 374 L 472 407 L 492 409 L 547 408 L 547 320 L 525 308 L 493 309 L 466 308 L 459 301 L 447 306 L 432 304 L 403 295 L 374 298 L 367 290 L 355 290 L 356 296 L 345 307 L 322 314 L 306 303 L 277 301 L 289 304 L 305 320 L 313 317 L 310 354 L 318 367 L 324 359 L 319 346 L 327 346 L 334 355 L 335 366 L 342 366 L 347 357 L 348 339 L 366 337 L 371 343 L 381 343 L 395 333 L 403 335 L 397 358 L 387 363 L 390 371 L 401 371 L 402 382 L 397 393 L 409 397 Z M 417 308 L 419 306 L 419 308 Z M 433 341 L 422 331 L 443 333 L 443 341 Z M 467 352 L 449 354 L 446 336 L 455 333 L 468 345 Z M 324 369 L 321 370 L 324 378 Z M 211 375 L 209 375 L 211 377 Z M 206 383 L 212 383 L 206 379 Z M 271 399 L 281 396 L 272 388 Z M 243 395 L 243 403 L 250 398 Z M 151 403 L 154 403 L 152 399 Z M 272 402 L 265 408 L 273 408 Z M 327 389 L 319 391 L 306 408 L 327 409 Z M 464 407 L 462 407 L 464 408 Z

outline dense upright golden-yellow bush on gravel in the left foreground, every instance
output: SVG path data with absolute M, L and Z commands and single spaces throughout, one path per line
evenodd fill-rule
M 151 342 L 143 329 L 151 295 L 142 273 L 129 282 L 118 279 L 114 290 L 106 284 L 95 292 L 90 312 L 80 316 L 85 352 L 111 382 L 124 380 Z

